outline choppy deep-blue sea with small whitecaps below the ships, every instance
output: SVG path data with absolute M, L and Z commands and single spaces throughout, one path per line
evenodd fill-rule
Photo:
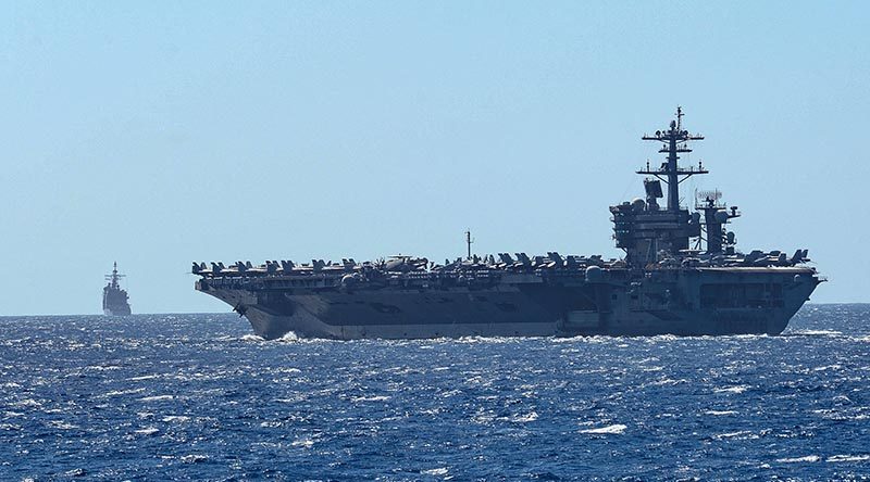
M 0 318 L 0 480 L 870 477 L 870 305 L 781 337 L 250 333 Z

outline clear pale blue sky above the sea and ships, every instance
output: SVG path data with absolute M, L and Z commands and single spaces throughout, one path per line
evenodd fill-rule
M 870 302 L 868 2 L 4 2 L 0 314 L 228 307 L 190 262 L 617 256 L 678 104 L 738 248 Z M 689 192 L 684 190 L 688 200 Z

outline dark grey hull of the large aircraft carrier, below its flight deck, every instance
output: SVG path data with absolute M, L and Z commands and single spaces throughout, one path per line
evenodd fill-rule
M 808 269 L 769 268 L 673 272 L 641 289 L 571 279 L 449 290 L 263 290 L 210 283 L 198 289 L 233 306 L 265 339 L 293 332 L 353 340 L 773 335 L 786 328 L 817 284 Z M 747 286 L 760 288 L 747 294 Z

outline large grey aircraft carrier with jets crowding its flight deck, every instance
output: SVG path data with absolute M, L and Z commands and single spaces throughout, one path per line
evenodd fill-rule
M 718 190 L 680 204 L 680 183 L 708 174 L 703 162 L 678 164 L 704 139 L 684 130 L 682 109 L 642 139 L 664 162 L 636 172 L 644 198 L 610 206 L 620 258 L 477 256 L 467 233 L 467 257 L 444 264 L 195 262 L 196 289 L 233 306 L 265 339 L 781 333 L 824 281 L 807 250 L 738 251 L 729 228 L 741 212 Z

